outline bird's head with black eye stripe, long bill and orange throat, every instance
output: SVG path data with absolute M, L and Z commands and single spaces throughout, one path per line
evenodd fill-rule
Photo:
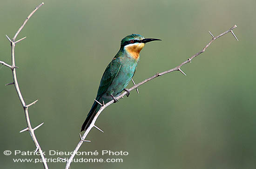
M 145 43 L 154 40 L 161 39 L 145 39 L 139 34 L 131 34 L 121 40 L 121 48 L 128 52 L 132 58 L 135 58 L 137 60 L 140 56 L 141 49 L 144 47 Z

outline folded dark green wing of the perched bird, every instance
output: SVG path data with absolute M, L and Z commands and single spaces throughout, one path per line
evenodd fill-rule
M 121 68 L 121 61 L 119 58 L 114 58 L 107 66 L 101 78 L 101 83 L 98 89 L 97 97 L 101 97 L 107 90 L 113 79 L 118 74 Z

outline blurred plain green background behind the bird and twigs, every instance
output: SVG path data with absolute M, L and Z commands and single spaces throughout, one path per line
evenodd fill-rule
M 0 60 L 37 0 L 1 0 Z M 18 82 L 44 151 L 73 151 L 103 71 L 131 33 L 161 42 L 145 45 L 134 76 L 141 82 L 186 60 L 235 24 L 191 64 L 132 91 L 103 111 L 80 151 L 128 151 L 123 163 L 72 163 L 73 169 L 255 169 L 255 0 L 45 0 L 15 47 Z M 42 169 L 13 163 L 4 150 L 33 151 L 11 71 L 0 65 L 0 161 L 3 169 Z M 132 84 L 129 84 L 132 86 Z M 47 158 L 57 156 L 46 155 Z M 68 157 L 68 156 L 61 156 Z M 78 158 L 82 156 L 76 156 Z M 98 156 L 83 156 L 99 158 Z M 63 169 L 65 163 L 48 163 Z

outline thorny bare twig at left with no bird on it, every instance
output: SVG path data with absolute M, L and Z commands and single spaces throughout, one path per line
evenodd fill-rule
M 21 132 L 23 131 L 28 131 L 33 139 L 33 142 L 35 144 L 35 147 L 36 147 L 36 150 L 35 151 L 39 151 L 40 152 L 40 157 L 43 161 L 43 166 L 45 169 L 48 169 L 48 166 L 47 166 L 47 163 L 46 163 L 46 159 L 44 157 L 44 154 L 43 154 L 43 151 L 41 150 L 41 147 L 36 139 L 36 136 L 34 134 L 34 130 L 38 129 L 43 123 L 41 123 L 40 125 L 38 125 L 37 127 L 35 127 L 34 129 L 32 128 L 31 126 L 31 123 L 30 123 L 30 119 L 29 119 L 29 115 L 28 115 L 28 107 L 31 106 L 32 104 L 35 104 L 38 100 L 34 101 L 33 103 L 31 104 L 26 104 L 22 95 L 21 95 L 21 92 L 20 92 L 20 87 L 19 87 L 19 84 L 18 84 L 18 81 L 17 81 L 17 75 L 16 75 L 16 67 L 15 66 L 15 57 L 14 57 L 14 48 L 15 48 L 15 44 L 20 42 L 21 40 L 25 39 L 26 37 L 24 38 L 21 38 L 17 41 L 15 41 L 15 39 L 17 38 L 18 34 L 20 33 L 20 31 L 23 29 L 23 27 L 25 26 L 25 24 L 27 23 L 27 21 L 29 20 L 29 18 L 37 11 L 38 8 L 40 8 L 42 5 L 44 5 L 44 3 L 42 2 L 39 6 L 35 7 L 34 10 L 27 16 L 27 18 L 25 19 L 25 21 L 23 22 L 23 24 L 20 26 L 20 28 L 18 29 L 18 31 L 15 33 L 13 39 L 10 39 L 7 35 L 7 39 L 10 41 L 11 43 L 11 57 L 12 57 L 12 65 L 8 65 L 6 64 L 5 62 L 3 61 L 0 61 L 1 64 L 3 65 L 6 65 L 7 67 L 11 68 L 12 72 L 13 72 L 13 83 L 9 83 L 9 84 L 14 84 L 15 86 L 15 89 L 16 89 L 16 92 L 18 94 L 18 97 L 20 99 L 20 102 L 22 104 L 22 107 L 24 109 L 24 112 L 25 112 L 25 117 L 26 117 L 26 122 L 27 122 L 27 128 L 24 129 L 24 130 L 21 130 Z M 6 84 L 6 85 L 9 85 L 9 84 Z

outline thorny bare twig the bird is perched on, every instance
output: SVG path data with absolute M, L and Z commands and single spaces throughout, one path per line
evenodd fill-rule
M 200 55 L 202 52 L 204 52 L 214 40 L 220 38 L 221 36 L 227 34 L 228 32 L 231 32 L 231 33 L 235 36 L 235 38 L 236 38 L 236 35 L 235 35 L 234 32 L 232 31 L 232 30 L 235 29 L 236 27 L 237 27 L 237 26 L 235 25 L 235 26 L 231 27 L 228 31 L 225 31 L 225 32 L 219 34 L 219 35 L 216 36 L 216 37 L 214 37 L 213 34 L 212 34 L 211 32 L 209 32 L 210 35 L 211 35 L 213 38 L 209 41 L 209 43 L 208 43 L 200 52 L 195 53 L 195 55 L 191 56 L 190 58 L 188 58 L 186 61 L 182 62 L 180 65 L 176 66 L 175 68 L 169 69 L 168 71 L 163 71 L 163 72 L 161 72 L 161 73 L 156 73 L 154 76 L 143 80 L 141 83 L 134 85 L 133 87 L 131 87 L 131 88 L 128 89 L 128 90 L 129 90 L 129 91 L 132 91 L 132 90 L 134 90 L 134 89 L 137 89 L 140 85 L 145 84 L 145 83 L 147 83 L 148 81 L 150 81 L 150 80 L 152 80 L 152 79 L 154 79 L 154 78 L 157 78 L 157 77 L 162 76 L 162 75 L 164 75 L 164 74 L 170 73 L 170 72 L 172 72 L 172 71 L 181 71 L 182 74 L 184 74 L 184 75 L 186 76 L 186 74 L 181 70 L 181 67 L 182 67 L 183 65 L 185 65 L 185 64 L 187 64 L 187 63 L 191 63 L 191 60 L 192 60 L 193 58 L 195 58 L 196 56 Z M 237 39 L 237 38 L 236 38 L 236 39 Z M 237 39 L 237 40 L 238 40 L 238 39 Z M 134 83 L 134 81 L 133 81 L 133 83 Z M 135 84 L 135 83 L 134 83 L 134 84 Z M 127 93 L 127 91 L 124 91 L 119 97 L 116 97 L 116 99 L 123 98 L 123 97 L 126 95 L 126 93 Z M 91 124 L 89 125 L 88 129 L 85 130 L 84 135 L 81 137 L 81 140 L 79 141 L 79 143 L 77 144 L 77 146 L 76 146 L 75 149 L 74 149 L 74 153 L 73 153 L 73 154 L 69 157 L 69 159 L 67 160 L 67 164 L 66 164 L 66 168 L 65 168 L 65 169 L 68 169 L 68 168 L 69 168 L 69 166 L 70 166 L 70 164 L 71 164 L 71 162 L 72 162 L 72 160 L 73 160 L 73 158 L 74 158 L 76 152 L 77 152 L 77 151 L 79 150 L 79 148 L 81 147 L 81 145 L 82 145 L 82 143 L 83 143 L 83 140 L 86 138 L 86 136 L 88 135 L 88 133 L 90 132 L 90 130 L 91 130 L 93 127 L 95 127 L 95 122 L 96 122 L 97 118 L 99 117 L 99 115 L 101 114 L 101 112 L 102 112 L 106 107 L 108 107 L 110 104 L 113 104 L 113 103 L 114 103 L 114 100 L 111 100 L 111 101 L 109 101 L 108 103 L 103 104 L 103 105 L 101 104 L 100 110 L 98 110 L 98 112 L 96 113 L 96 115 L 95 115 L 93 121 L 91 122 Z

